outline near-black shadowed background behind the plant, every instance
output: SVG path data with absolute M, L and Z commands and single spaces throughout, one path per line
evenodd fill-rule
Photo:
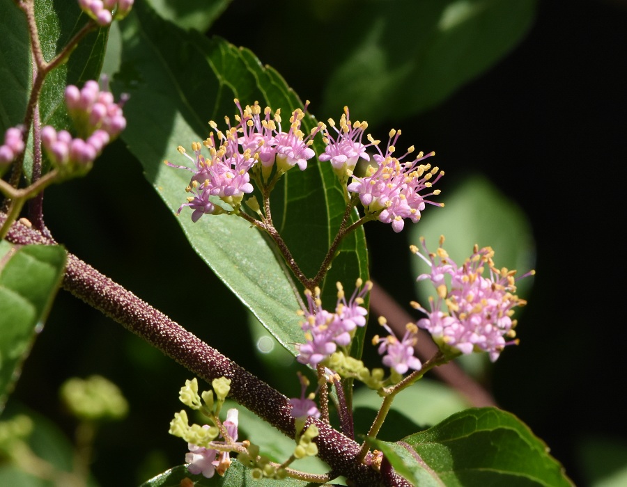
M 279 4 L 284 18 L 277 18 Z M 264 33 L 261 26 L 288 25 L 288 2 L 277 7 L 270 13 L 261 2 L 235 2 L 210 33 L 252 49 L 302 99 L 319 99 L 325 73 L 292 74 L 293 60 L 264 42 L 270 29 Z M 242 27 L 222 30 L 234 22 Z M 251 31 L 254 25 L 261 31 Z M 287 32 L 283 27 L 274 35 Z M 624 3 L 541 1 L 534 26 L 509 56 L 437 109 L 392 124 L 412 134 L 418 147 L 435 148 L 447 170 L 444 191 L 479 170 L 529 216 L 537 246 L 534 289 L 518 328 L 522 342 L 498 360 L 491 387 L 500 406 L 529 424 L 580 485 L 589 481 L 580 456 L 584 440 L 627 442 L 621 314 L 626 60 Z M 369 122 L 371 131 L 384 134 L 390 125 Z M 245 326 L 238 325 L 245 322 L 238 303 L 206 276 L 123 145 L 105 156 L 107 163 L 96 164 L 87 179 L 47 191 L 47 223 L 56 239 L 227 356 L 247 362 L 252 351 Z M 403 264 L 407 284 L 399 286 L 387 256 L 406 255 L 408 242 L 384 226 L 366 227 L 373 276 L 405 303 L 412 298 L 409 264 Z M 167 425 L 180 410 L 177 393 L 187 372 L 61 292 L 14 397 L 71 431 L 56 391 L 68 375 L 91 373 L 112 378 L 140 408 L 132 420 L 100 434 L 94 471 L 103 485 L 116 485 L 108 456 L 116 458 L 118 472 L 140 470 L 137 481 L 182 463 L 182 445 L 169 438 Z M 146 438 L 154 440 L 154 452 Z

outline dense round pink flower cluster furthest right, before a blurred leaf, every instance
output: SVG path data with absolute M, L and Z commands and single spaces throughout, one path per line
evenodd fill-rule
M 465 354 L 486 351 L 494 362 L 505 346 L 518 343 L 513 340 L 516 320 L 511 317 L 513 308 L 526 301 L 513 294 L 516 271 L 496 269 L 490 247 L 475 246 L 470 258 L 458 266 L 442 248 L 443 241 L 435 253 L 429 253 L 422 241 L 428 257 L 412 246 L 412 251 L 431 267 L 431 272 L 421 274 L 418 280 L 431 280 L 438 292 L 437 299 L 429 300 L 431 310 L 413 303 L 427 315 L 418 326 L 428 330 L 438 343 Z

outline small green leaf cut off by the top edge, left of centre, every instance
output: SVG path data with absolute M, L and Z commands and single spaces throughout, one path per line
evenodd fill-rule
M 157 13 L 183 29 L 206 32 L 232 0 L 149 0 Z

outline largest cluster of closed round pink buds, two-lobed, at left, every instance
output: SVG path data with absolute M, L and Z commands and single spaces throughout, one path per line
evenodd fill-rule
M 126 100 L 114 102 L 108 91 L 101 91 L 96 81 L 87 81 L 79 90 L 65 88 L 65 104 L 77 130 L 84 138 L 73 138 L 66 130 L 56 131 L 47 125 L 41 130 L 41 140 L 48 156 L 59 167 L 91 166 L 104 146 L 114 140 L 126 127 L 122 106 Z

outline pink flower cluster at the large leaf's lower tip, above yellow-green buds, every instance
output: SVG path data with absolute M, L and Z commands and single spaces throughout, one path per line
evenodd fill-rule
M 364 287 L 361 286 L 362 280 L 357 280 L 353 296 L 346 301 L 343 289 L 338 283 L 338 299 L 334 313 L 321 308 L 320 289 L 316 288 L 315 296 L 309 289 L 305 291 L 308 309 L 303 312 L 305 321 L 301 327 L 307 341 L 297 345 L 298 362 L 316 367 L 334 353 L 337 346 L 350 344 L 353 331 L 357 326 L 366 324 L 368 314 L 366 308 L 361 305 L 364 303 L 364 296 L 372 289 L 372 282 L 366 281 Z

